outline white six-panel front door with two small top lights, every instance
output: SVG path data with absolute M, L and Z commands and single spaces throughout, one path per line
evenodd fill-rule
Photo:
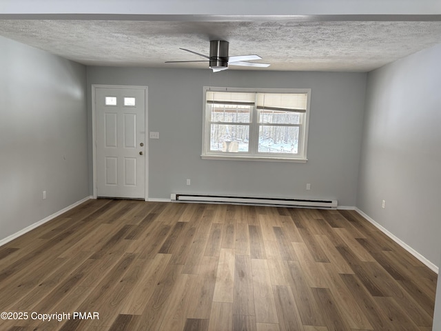
M 145 89 L 96 88 L 96 195 L 145 199 Z

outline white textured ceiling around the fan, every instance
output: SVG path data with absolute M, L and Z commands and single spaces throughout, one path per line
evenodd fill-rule
M 436 43 L 440 21 L 97 21 L 0 20 L 0 35 L 96 66 L 208 68 L 209 40 L 230 55 L 258 54 L 257 70 L 366 72 Z M 256 68 L 231 67 L 240 70 Z

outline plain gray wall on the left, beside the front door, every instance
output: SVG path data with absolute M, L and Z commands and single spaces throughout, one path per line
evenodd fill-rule
M 0 50 L 1 240 L 88 197 L 89 179 L 85 67 L 3 37 Z

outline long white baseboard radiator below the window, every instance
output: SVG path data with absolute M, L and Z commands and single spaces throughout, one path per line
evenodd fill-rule
M 336 209 L 337 200 L 290 199 L 264 197 L 232 197 L 227 195 L 171 194 L 172 201 L 199 203 L 236 203 L 243 205 L 278 205 L 284 207 Z

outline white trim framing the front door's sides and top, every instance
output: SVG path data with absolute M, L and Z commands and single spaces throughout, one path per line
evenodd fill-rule
M 93 163 L 93 198 L 97 197 L 97 177 L 96 177 L 96 88 L 130 88 L 130 89 L 138 89 L 145 91 L 145 197 L 144 200 L 148 201 L 148 156 L 149 156 L 149 135 L 148 135 L 148 86 L 125 86 L 125 85 L 101 85 L 101 84 L 92 84 L 92 163 Z

